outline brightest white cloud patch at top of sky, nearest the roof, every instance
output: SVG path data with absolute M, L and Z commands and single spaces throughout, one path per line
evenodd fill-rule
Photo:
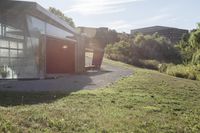
M 99 15 L 123 12 L 126 9 L 123 4 L 143 0 L 76 0 L 75 5 L 66 10 L 65 13 L 76 12 L 83 15 Z

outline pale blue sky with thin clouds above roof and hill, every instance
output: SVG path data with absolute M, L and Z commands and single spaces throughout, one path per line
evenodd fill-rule
M 161 25 L 193 29 L 200 22 L 200 0 L 28 0 L 60 9 L 76 26 L 131 29 Z

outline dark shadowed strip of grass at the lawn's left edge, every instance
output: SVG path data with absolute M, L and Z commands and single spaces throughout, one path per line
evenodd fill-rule
M 33 105 L 51 103 L 68 96 L 67 92 L 0 92 L 0 106 Z

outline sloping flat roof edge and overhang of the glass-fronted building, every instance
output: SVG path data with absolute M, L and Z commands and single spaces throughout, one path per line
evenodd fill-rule
M 0 0 L 0 10 L 14 10 L 16 12 L 26 12 L 39 19 L 49 22 L 59 28 L 65 29 L 71 33 L 78 34 L 75 28 L 71 27 L 67 22 L 49 12 L 36 2 L 16 1 L 16 0 Z

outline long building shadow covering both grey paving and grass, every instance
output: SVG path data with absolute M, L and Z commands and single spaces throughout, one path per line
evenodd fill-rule
M 70 75 L 64 79 L 51 80 L 0 80 L 0 106 L 8 107 L 17 105 L 52 103 L 63 97 L 69 96 L 72 92 L 83 90 L 85 87 L 87 89 L 87 86 L 92 84 L 92 76 L 102 75 L 110 72 L 111 71 L 106 70 L 90 71 L 82 75 Z M 42 89 L 43 91 L 27 91 L 29 88 L 33 89 L 35 87 L 38 87 L 37 90 Z M 45 89 L 47 91 L 45 91 Z

